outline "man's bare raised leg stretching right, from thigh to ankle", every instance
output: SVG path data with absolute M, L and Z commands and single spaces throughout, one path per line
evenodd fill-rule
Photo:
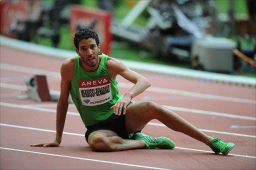
M 158 119 L 172 130 L 187 134 L 206 145 L 211 137 L 201 132 L 194 125 L 175 112 L 151 101 L 135 102 L 126 109 L 125 125 L 128 132 L 141 129 L 151 119 Z

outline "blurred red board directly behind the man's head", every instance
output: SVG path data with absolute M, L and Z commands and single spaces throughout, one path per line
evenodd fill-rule
M 95 31 L 100 41 L 100 51 L 109 54 L 111 48 L 110 22 L 111 13 L 101 9 L 91 9 L 80 5 L 73 5 L 70 8 L 70 32 L 71 41 L 77 32 L 77 24 L 89 26 L 93 19 L 96 19 Z

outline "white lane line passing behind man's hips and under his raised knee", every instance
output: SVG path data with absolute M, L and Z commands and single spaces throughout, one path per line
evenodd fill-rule
M 50 112 L 50 113 L 54 113 L 54 114 L 56 113 L 56 109 L 34 107 L 34 106 L 29 106 L 29 105 L 12 104 L 12 103 L 6 103 L 6 102 L 0 102 L 0 105 L 7 106 L 7 107 L 14 107 L 14 108 L 23 108 L 23 109 L 31 109 L 31 110 L 37 110 L 37 111 Z M 67 111 L 66 114 L 80 116 L 79 113 L 72 112 L 72 111 Z M 149 125 L 156 125 L 156 126 L 165 126 L 162 123 L 149 122 L 148 124 Z M 245 137 L 254 137 L 255 138 L 255 136 L 248 135 L 248 134 L 231 133 L 231 132 L 216 131 L 216 130 L 209 130 L 209 129 L 200 129 L 200 130 L 205 131 L 205 132 L 228 134 L 228 135 L 236 135 L 236 136 L 245 136 Z

